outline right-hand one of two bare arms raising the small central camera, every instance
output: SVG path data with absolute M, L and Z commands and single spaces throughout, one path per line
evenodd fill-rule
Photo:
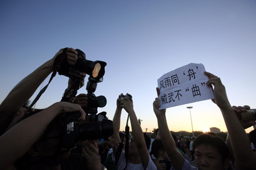
M 121 100 L 121 107 L 124 108 L 125 111 L 130 115 L 134 141 L 140 155 L 141 163 L 144 169 L 146 169 L 148 161 L 150 160 L 150 155 L 148 154 L 144 135 L 133 109 L 133 103 L 127 97 L 125 97 L 123 100 Z

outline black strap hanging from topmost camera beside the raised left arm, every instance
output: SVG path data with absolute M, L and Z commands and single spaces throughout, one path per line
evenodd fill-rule
M 53 73 L 51 75 L 51 78 L 49 80 L 49 83 L 41 89 L 41 91 L 37 94 L 36 98 L 34 99 L 34 101 L 31 103 L 31 105 L 28 107 L 28 109 L 26 110 L 26 112 L 24 113 L 24 115 L 22 116 L 22 118 L 19 119 L 18 122 L 20 122 L 21 120 L 24 119 L 25 115 L 28 113 L 28 111 L 34 106 L 34 104 L 39 100 L 40 96 L 42 95 L 42 93 L 44 93 L 47 89 L 47 87 L 49 86 L 49 84 L 51 83 L 52 79 L 56 76 L 56 73 L 60 67 L 60 64 L 62 63 L 62 61 L 65 59 L 65 57 L 67 58 L 67 49 L 68 48 L 64 48 L 63 52 L 61 54 L 59 54 L 53 63 L 54 69 L 53 69 Z

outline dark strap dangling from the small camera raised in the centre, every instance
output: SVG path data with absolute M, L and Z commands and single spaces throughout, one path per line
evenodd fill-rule
M 129 120 L 129 114 L 127 117 L 127 122 L 126 122 L 126 126 L 125 126 L 125 148 L 124 148 L 124 156 L 125 156 L 125 160 L 126 160 L 126 164 L 123 170 L 126 169 L 127 167 L 127 163 L 128 163 L 128 153 L 129 153 L 129 131 L 130 131 L 130 127 L 128 126 L 128 120 Z M 121 156 L 121 153 L 123 151 L 123 138 L 122 137 L 122 141 L 121 143 L 119 143 L 119 147 L 117 149 L 117 153 L 116 153 L 116 158 L 115 158 L 115 169 L 117 169 L 117 163 L 119 161 L 119 158 Z

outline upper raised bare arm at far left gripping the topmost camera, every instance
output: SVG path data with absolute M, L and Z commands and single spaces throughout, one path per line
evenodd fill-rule
M 20 81 L 7 95 L 0 106 L 0 136 L 11 124 L 18 110 L 31 98 L 38 86 L 51 74 L 55 58 L 62 53 L 61 49 L 51 60 L 42 64 L 30 75 Z M 77 56 L 73 48 L 68 48 L 68 61 L 75 65 Z

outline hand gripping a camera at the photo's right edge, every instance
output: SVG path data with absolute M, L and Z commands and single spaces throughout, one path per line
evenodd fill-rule
M 236 113 L 237 117 L 240 119 L 240 123 L 242 124 L 244 129 L 247 129 L 253 125 L 256 125 L 256 122 L 254 120 L 250 120 L 250 121 L 246 121 L 243 119 L 243 117 L 241 116 L 241 113 L 246 112 L 246 109 L 250 109 L 250 106 L 232 106 L 232 108 L 234 109 L 234 112 Z

